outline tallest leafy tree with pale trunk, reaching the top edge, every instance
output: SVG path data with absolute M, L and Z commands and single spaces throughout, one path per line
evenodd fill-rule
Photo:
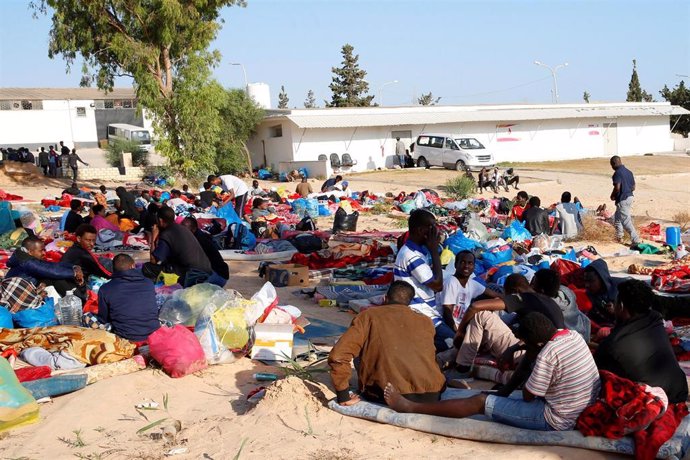
M 67 69 L 78 56 L 98 88 L 134 80 L 139 106 L 150 111 L 156 149 L 184 175 L 214 167 L 225 91 L 211 79 L 219 53 L 209 51 L 225 6 L 244 0 L 33 0 L 35 14 L 52 9 L 48 55 Z M 212 99 L 218 97 L 219 99 Z M 209 99 L 211 98 L 211 99 Z

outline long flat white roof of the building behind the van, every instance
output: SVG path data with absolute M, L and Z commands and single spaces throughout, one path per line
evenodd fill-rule
M 284 119 L 299 128 L 355 128 L 482 121 L 557 120 L 688 115 L 668 102 L 606 104 L 348 107 L 267 110 L 266 121 Z

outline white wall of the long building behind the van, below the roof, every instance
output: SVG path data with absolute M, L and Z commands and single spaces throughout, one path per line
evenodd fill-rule
M 392 131 L 411 131 L 413 139 L 422 132 L 449 132 L 475 137 L 494 154 L 497 162 L 526 162 L 671 151 L 673 140 L 668 122 L 668 117 L 657 116 L 306 130 L 283 121 L 283 126 L 292 125 L 294 160 L 314 161 L 321 154 L 342 155 L 347 152 L 357 161 L 352 171 L 363 171 L 393 165 L 395 139 L 391 137 Z M 258 161 L 258 152 L 261 151 L 257 146 L 264 139 L 262 136 L 269 132 L 267 125 L 275 123 L 262 123 L 248 145 L 255 164 L 263 163 L 263 159 Z M 617 127 L 607 127 L 609 123 L 616 123 Z M 286 129 L 283 133 L 286 134 Z M 612 140 L 614 137 L 615 141 Z M 271 141 L 275 140 L 267 140 Z M 285 143 L 280 145 L 275 157 L 272 156 L 273 151 L 266 149 L 269 164 L 289 161 L 285 158 L 286 151 L 289 151 Z

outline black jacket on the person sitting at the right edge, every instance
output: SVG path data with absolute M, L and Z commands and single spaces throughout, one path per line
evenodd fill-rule
M 685 373 L 656 311 L 650 310 L 613 328 L 597 348 L 594 361 L 600 370 L 663 388 L 669 403 L 685 402 L 688 398 Z

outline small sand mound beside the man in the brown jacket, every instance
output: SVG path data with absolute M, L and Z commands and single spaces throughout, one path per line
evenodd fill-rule
M 310 412 L 319 412 L 333 396 L 333 392 L 321 383 L 287 377 L 268 387 L 266 396 L 259 402 L 255 412 L 273 413 L 294 409 L 303 413 L 305 407 Z

